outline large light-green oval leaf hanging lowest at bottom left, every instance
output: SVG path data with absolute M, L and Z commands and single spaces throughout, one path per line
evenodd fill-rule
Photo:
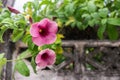
M 29 76 L 30 75 L 30 70 L 28 69 L 25 62 L 23 62 L 22 60 L 16 62 L 15 70 L 17 70 L 23 76 Z

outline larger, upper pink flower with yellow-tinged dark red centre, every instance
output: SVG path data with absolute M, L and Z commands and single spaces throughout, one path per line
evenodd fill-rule
M 52 44 L 56 40 L 57 30 L 57 23 L 47 18 L 40 22 L 33 23 L 30 28 L 32 41 L 37 46 Z

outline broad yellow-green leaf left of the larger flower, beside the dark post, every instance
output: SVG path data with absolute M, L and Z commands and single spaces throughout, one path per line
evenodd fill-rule
M 20 40 L 22 38 L 23 34 L 24 34 L 23 30 L 16 30 L 15 29 L 13 31 L 13 34 L 12 34 L 12 41 L 16 42 L 16 41 Z

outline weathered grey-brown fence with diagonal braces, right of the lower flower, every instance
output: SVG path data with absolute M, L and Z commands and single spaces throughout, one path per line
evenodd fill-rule
M 27 47 L 21 42 L 17 45 Z M 62 45 L 65 60 L 51 68 L 58 75 L 71 75 L 75 80 L 120 80 L 120 41 L 63 41 Z

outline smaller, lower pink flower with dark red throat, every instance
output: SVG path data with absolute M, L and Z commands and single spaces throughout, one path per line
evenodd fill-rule
M 38 53 L 35 62 L 37 67 L 43 69 L 49 65 L 53 65 L 56 60 L 56 54 L 53 50 L 45 49 Z

